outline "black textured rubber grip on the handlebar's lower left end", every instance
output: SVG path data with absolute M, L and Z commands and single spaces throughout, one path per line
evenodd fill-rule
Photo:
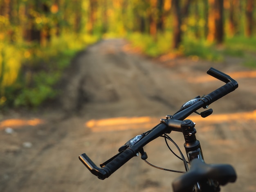
M 123 152 L 121 152 L 115 159 L 110 161 L 108 164 L 102 167 L 103 170 L 107 172 L 107 177 L 109 177 L 112 173 L 118 170 L 122 165 L 124 165 L 127 161 L 132 159 L 136 154 L 130 148 L 127 148 Z M 105 178 L 99 178 L 105 179 Z

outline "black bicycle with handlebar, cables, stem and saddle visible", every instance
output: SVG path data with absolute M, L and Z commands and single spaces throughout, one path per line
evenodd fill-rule
M 105 163 L 102 163 L 100 167 L 94 164 L 94 162 L 84 153 L 79 156 L 80 161 L 90 170 L 90 172 L 96 175 L 99 179 L 106 179 L 122 165 L 129 161 L 134 156 L 141 154 L 143 159 L 149 165 L 167 170 L 161 167 L 150 164 L 147 159 L 147 154 L 144 152 L 143 147 L 155 138 L 163 137 L 166 141 L 166 145 L 169 150 L 173 152 L 168 145 L 167 140 L 171 141 L 180 152 L 180 156 L 177 156 L 184 163 L 186 172 L 167 170 L 173 172 L 184 173 L 182 176 L 175 179 L 172 183 L 174 192 L 218 192 L 220 191 L 220 185 L 226 185 L 229 182 L 236 181 L 236 171 L 229 164 L 206 164 L 204 162 L 202 149 L 200 142 L 196 139 L 195 123 L 186 119 L 193 112 L 200 114 L 203 118 L 212 114 L 212 109 L 207 109 L 211 103 L 222 98 L 238 88 L 236 80 L 232 79 L 229 75 L 218 71 L 217 69 L 210 68 L 207 74 L 217 78 L 218 80 L 226 83 L 222 87 L 216 89 L 208 95 L 197 96 L 188 102 L 184 103 L 179 111 L 175 114 L 167 115 L 165 119 L 161 119 L 160 123 L 153 127 L 153 129 L 135 136 L 126 142 L 119 148 L 119 153 L 110 158 Z M 198 113 L 198 109 L 207 109 L 204 112 Z M 185 159 L 180 148 L 172 140 L 170 134 L 172 131 L 182 132 L 184 136 L 184 147 L 188 161 Z M 189 165 L 190 167 L 189 167 Z

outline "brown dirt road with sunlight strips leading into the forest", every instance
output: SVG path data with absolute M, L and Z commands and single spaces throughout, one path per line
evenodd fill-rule
M 234 77 L 239 87 L 210 105 L 211 116 L 190 117 L 196 123 L 205 161 L 236 168 L 237 182 L 222 191 L 256 191 L 256 71 L 242 67 L 242 62 L 238 58 L 222 63 L 153 60 L 135 53 L 121 39 L 92 45 L 74 59 L 63 78 L 63 94 L 52 107 L 1 114 L 0 191 L 172 191 L 171 182 L 179 174 L 157 170 L 139 157 L 101 181 L 78 156 L 86 152 L 99 165 L 187 100 L 223 85 L 207 76 L 209 67 Z M 182 135 L 170 136 L 182 148 Z M 150 163 L 184 170 L 163 139 L 144 150 Z

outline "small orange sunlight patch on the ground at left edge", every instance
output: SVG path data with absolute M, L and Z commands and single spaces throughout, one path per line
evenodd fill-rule
M 34 118 L 30 120 L 25 119 L 7 119 L 0 122 L 0 129 L 4 129 L 6 127 L 11 128 L 18 128 L 20 126 L 30 125 L 30 126 L 36 126 L 39 124 L 43 124 L 45 121 L 42 119 Z

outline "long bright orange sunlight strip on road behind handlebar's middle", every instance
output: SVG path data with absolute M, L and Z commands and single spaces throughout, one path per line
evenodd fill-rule
M 222 123 L 230 121 L 256 121 L 256 110 L 253 112 L 241 112 L 232 114 L 212 114 L 207 118 L 193 115 L 187 119 L 191 119 L 194 123 Z M 89 127 L 92 132 L 110 132 L 129 129 L 151 129 L 158 123 L 160 118 L 157 117 L 117 117 L 95 120 L 92 119 L 85 123 L 85 127 Z

